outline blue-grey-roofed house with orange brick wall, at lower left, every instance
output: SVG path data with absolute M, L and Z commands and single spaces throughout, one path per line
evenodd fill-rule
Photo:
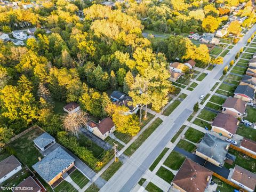
M 32 167 L 45 182 L 52 186 L 55 181 L 63 179 L 62 175 L 75 165 L 74 162 L 75 159 L 72 156 L 58 147 Z

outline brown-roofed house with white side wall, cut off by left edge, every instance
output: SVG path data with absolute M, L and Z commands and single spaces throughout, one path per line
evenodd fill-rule
M 21 169 L 21 163 L 14 155 L 5 158 L 0 162 L 0 183 L 6 181 Z

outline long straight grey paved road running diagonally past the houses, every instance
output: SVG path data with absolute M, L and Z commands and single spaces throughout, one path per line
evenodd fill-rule
M 193 111 L 193 106 L 201 94 L 207 94 L 222 75 L 222 70 L 235 58 L 241 47 L 247 44 L 247 39 L 256 30 L 254 25 L 249 33 L 231 49 L 230 54 L 224 58 L 223 65 L 217 65 L 211 73 L 194 89 L 188 97 L 180 103 L 173 113 L 164 119 L 164 122 L 150 135 L 128 161 L 114 174 L 114 176 L 101 188 L 100 191 L 131 191 L 148 167 L 161 153 L 176 131 L 186 121 Z M 157 182 L 157 181 L 156 181 Z

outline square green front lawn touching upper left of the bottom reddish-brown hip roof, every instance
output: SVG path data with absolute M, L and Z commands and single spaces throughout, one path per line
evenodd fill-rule
M 164 165 L 171 168 L 172 170 L 179 170 L 186 157 L 182 154 L 172 151 L 170 155 L 165 159 Z

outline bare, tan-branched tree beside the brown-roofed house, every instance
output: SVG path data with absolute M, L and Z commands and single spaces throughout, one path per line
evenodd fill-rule
M 87 116 L 84 111 L 69 113 L 62 116 L 62 122 L 64 129 L 77 137 L 79 129 L 86 126 Z

